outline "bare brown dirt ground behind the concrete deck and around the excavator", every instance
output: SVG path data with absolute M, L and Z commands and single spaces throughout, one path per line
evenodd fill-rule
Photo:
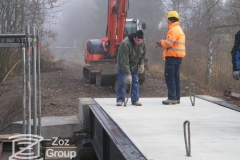
M 182 96 L 189 96 L 190 79 L 181 79 Z M 82 66 L 62 62 L 61 67 L 41 73 L 42 116 L 77 115 L 77 98 L 115 98 L 112 87 L 89 84 L 82 77 Z M 0 83 L 0 129 L 14 121 L 22 120 L 22 76 Z M 209 90 L 195 83 L 196 94 L 224 98 L 222 93 Z M 147 72 L 146 81 L 140 87 L 140 97 L 166 97 L 167 87 L 163 76 Z M 141 101 L 141 99 L 140 99 Z M 115 102 L 114 102 L 115 103 Z M 231 102 L 230 102 L 231 103 Z

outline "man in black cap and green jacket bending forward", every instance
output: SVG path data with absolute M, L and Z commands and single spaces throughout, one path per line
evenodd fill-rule
M 141 106 L 139 102 L 138 73 L 144 72 L 146 47 L 143 40 L 143 31 L 138 30 L 130 34 L 121 42 L 117 54 L 117 106 L 122 106 L 125 100 L 127 84 L 131 87 L 132 105 Z

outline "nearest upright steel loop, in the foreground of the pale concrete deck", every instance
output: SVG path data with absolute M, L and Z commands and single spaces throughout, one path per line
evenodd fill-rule
M 188 125 L 188 138 L 186 133 L 186 125 Z M 184 131 L 184 140 L 185 140 L 185 147 L 186 147 L 186 154 L 188 157 L 191 157 L 191 136 L 190 136 L 190 122 L 186 120 L 183 123 L 183 131 Z

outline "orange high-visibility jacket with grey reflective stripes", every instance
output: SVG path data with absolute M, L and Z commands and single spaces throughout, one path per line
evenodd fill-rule
M 179 22 L 168 25 L 166 39 L 161 41 L 161 45 L 163 47 L 163 59 L 166 57 L 185 57 L 185 34 Z

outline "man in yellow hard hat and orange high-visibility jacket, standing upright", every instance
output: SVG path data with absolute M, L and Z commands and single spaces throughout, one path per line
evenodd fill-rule
M 167 15 L 168 32 L 166 38 L 157 42 L 163 48 L 165 60 L 164 77 L 168 88 L 168 99 L 163 104 L 180 103 L 180 64 L 186 55 L 185 34 L 180 27 L 179 15 L 170 11 Z

